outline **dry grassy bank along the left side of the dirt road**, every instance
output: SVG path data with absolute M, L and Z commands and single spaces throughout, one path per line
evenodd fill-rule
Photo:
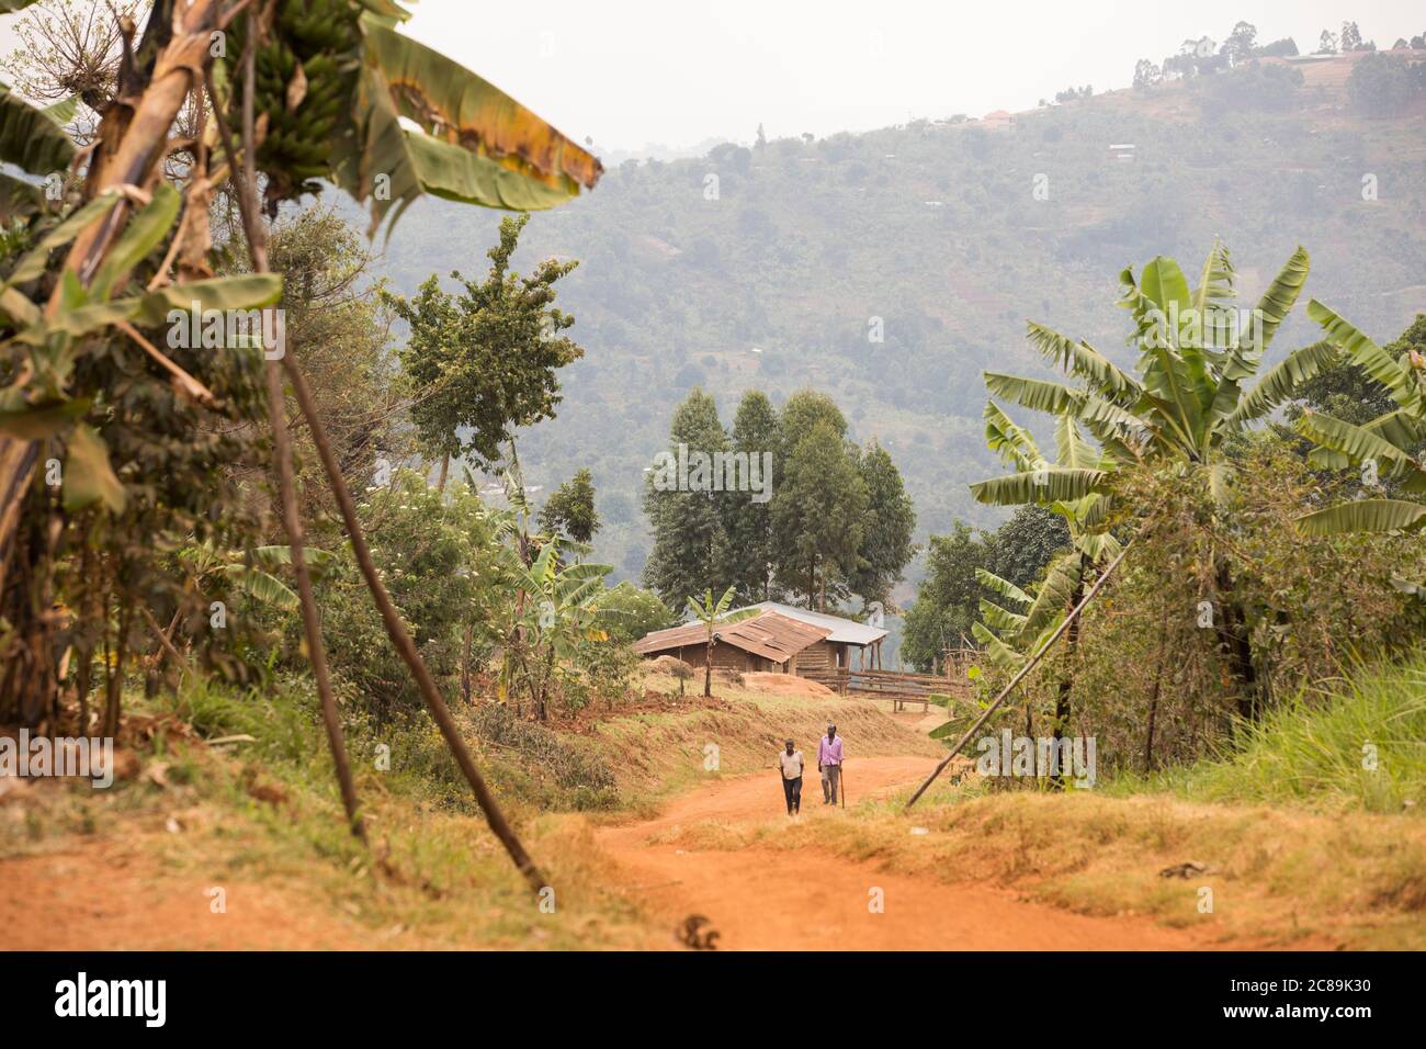
M 811 739 L 827 716 L 866 754 L 937 751 L 857 701 L 809 702 L 722 678 L 713 699 L 679 696 L 670 676 L 643 684 L 622 709 L 550 726 L 495 704 L 458 709 L 556 889 L 560 921 L 538 909 L 432 726 L 351 719 L 372 842 L 364 849 L 342 822 L 317 699 L 299 682 L 271 695 L 197 681 L 177 698 L 128 695 L 120 781 L 111 791 L 41 781 L 0 795 L 0 858 L 77 852 L 83 863 L 98 855 L 87 849 L 134 846 L 141 869 L 170 895 L 191 889 L 202 913 L 200 889 L 257 883 L 329 916 L 337 946 L 667 948 L 667 923 L 640 911 L 636 886 L 599 853 L 600 822 L 650 815 L 673 791 L 761 771 L 786 734 Z

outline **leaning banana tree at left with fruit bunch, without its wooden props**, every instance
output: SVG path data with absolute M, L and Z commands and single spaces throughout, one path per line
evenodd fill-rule
M 29 6 L 10 0 L 7 10 Z M 254 20 L 245 7 L 237 0 L 194 0 L 181 9 L 174 0 L 160 0 L 154 6 L 143 40 L 120 70 L 120 87 L 131 104 L 106 114 L 94 148 L 83 158 L 83 206 L 56 228 L 47 228 L 51 216 L 34 183 L 63 184 L 76 164 L 73 143 L 60 127 L 63 113 L 31 107 L 0 86 L 0 161 L 33 180 L 4 176 L 0 198 L 7 217 L 29 221 L 34 244 L 0 287 L 7 327 L 0 338 L 10 343 L 29 330 L 24 341 L 37 353 L 60 355 L 58 367 L 21 361 L 13 373 L 19 378 L 0 391 L 6 398 L 0 412 L 24 415 L 0 428 L 0 589 L 20 502 L 34 474 L 37 441 L 57 432 L 57 427 L 44 430 L 43 424 L 56 417 L 73 422 L 61 414 L 60 402 L 73 364 L 66 354 L 81 348 L 48 347 L 47 338 L 57 330 L 73 343 L 104 327 L 137 324 L 140 317 L 151 327 L 154 304 L 107 300 L 120 291 L 123 281 L 117 278 L 127 277 L 164 241 L 181 241 L 170 244 L 165 260 L 177 255 L 180 271 L 184 261 L 205 267 L 212 186 L 238 174 L 251 181 L 261 171 L 267 203 L 275 207 L 314 190 L 314 178 L 329 178 L 369 203 L 374 224 L 385 220 L 389 231 L 421 196 L 535 210 L 569 200 L 599 180 L 599 161 L 580 146 L 479 76 L 402 36 L 396 26 L 409 14 L 391 0 L 275 3 L 262 20 Z M 250 34 L 251 27 L 260 29 Z M 224 46 L 215 46 L 215 39 Z M 244 60 L 252 77 L 247 77 Z M 235 90 L 238 83 L 241 91 Z M 153 184 L 178 110 L 197 90 L 207 91 L 215 120 L 207 121 L 201 141 L 190 147 L 195 164 L 183 187 L 185 207 L 175 228 L 178 194 L 163 186 L 153 194 L 155 207 L 148 207 L 148 191 L 134 187 Z M 244 140 L 245 156 L 237 153 L 231 136 L 240 123 L 252 126 L 251 141 Z M 217 156 L 220 148 L 227 163 L 210 167 L 210 153 Z M 130 223 L 135 207 L 144 208 L 143 221 Z M 125 230 L 140 235 L 125 235 Z M 248 231 L 261 240 L 261 231 Z M 27 285 L 40 284 L 50 253 L 63 247 L 68 247 L 68 277 L 54 281 L 47 303 L 31 301 Z M 180 291 L 160 274 L 158 295 L 181 301 L 184 308 L 200 298 L 204 310 L 247 310 L 271 305 L 281 291 L 275 275 L 260 273 L 245 280 L 250 294 L 215 301 L 188 283 Z M 36 328 L 41 308 L 46 325 Z M 163 315 L 157 313 L 160 320 Z M 160 357 L 155 365 L 171 371 Z M 175 375 L 175 381 L 201 395 L 184 377 Z M 83 474 L 76 482 L 78 498 L 94 494 L 117 508 L 123 491 L 108 477 L 103 444 L 81 425 L 70 428 L 77 434 Z

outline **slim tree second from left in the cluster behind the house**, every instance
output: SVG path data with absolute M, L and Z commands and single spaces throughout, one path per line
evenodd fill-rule
M 771 498 L 754 500 L 750 492 L 739 492 L 729 498 L 726 515 L 727 564 L 739 602 L 770 601 L 774 597 L 773 564 L 777 559 L 771 500 L 777 498 L 781 480 L 783 441 L 777 412 L 760 390 L 749 390 L 739 401 L 733 420 L 733 451 L 759 464 L 764 461 L 764 454 L 770 455 L 770 471 L 760 477 Z

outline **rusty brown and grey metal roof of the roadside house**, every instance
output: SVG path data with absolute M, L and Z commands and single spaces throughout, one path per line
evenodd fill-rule
M 804 608 L 764 601 L 736 609 L 753 612 L 713 628 L 713 667 L 736 671 L 797 674 L 834 671 L 850 667 L 851 651 L 878 651 L 887 631 L 840 615 L 809 612 Z M 700 624 L 655 631 L 635 644 L 640 655 L 673 655 L 692 667 L 707 659 L 707 628 Z

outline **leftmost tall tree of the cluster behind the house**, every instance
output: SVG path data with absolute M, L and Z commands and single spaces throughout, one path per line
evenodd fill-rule
M 673 412 L 667 457 L 650 467 L 643 498 L 653 527 L 645 585 L 672 608 L 683 608 L 710 582 L 719 591 L 729 585 L 724 492 L 713 491 L 712 467 L 697 468 L 700 457 L 712 460 L 726 450 L 717 402 L 694 388 Z

